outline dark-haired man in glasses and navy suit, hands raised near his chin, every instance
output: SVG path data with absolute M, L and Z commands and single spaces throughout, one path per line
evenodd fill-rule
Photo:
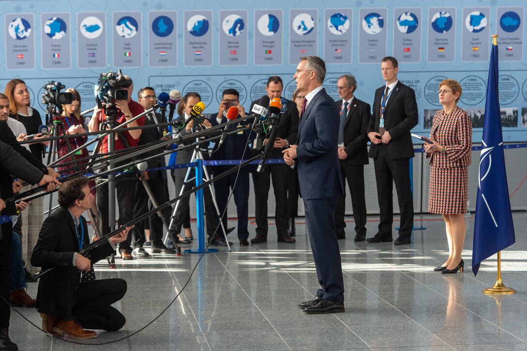
M 245 109 L 240 105 L 240 93 L 236 89 L 227 89 L 222 93 L 222 99 L 218 108 L 218 113 L 210 116 L 212 126 L 217 126 L 227 122 L 227 111 L 229 107 L 236 106 L 238 108 L 238 118 L 245 117 Z M 240 122 L 241 123 L 241 122 Z M 243 124 L 248 124 L 245 121 Z M 211 160 L 241 160 L 251 157 L 251 151 L 247 145 L 247 140 L 250 138 L 250 130 L 244 130 L 237 134 L 231 134 L 225 137 L 223 144 L 219 146 L 218 140 L 212 155 Z M 236 166 L 215 166 L 212 167 L 212 174 L 217 176 L 226 172 L 227 170 Z M 214 181 L 214 194 L 216 195 L 216 202 L 220 210 L 220 215 L 223 214 L 223 227 L 227 228 L 227 200 L 229 193 L 232 190 L 236 210 L 238 213 L 238 239 L 240 246 L 248 246 L 247 239 L 249 238 L 249 231 L 247 229 L 249 217 L 249 172 L 253 166 L 246 166 L 240 169 L 240 173 L 231 173 L 226 177 Z M 236 185 L 236 186 L 235 186 Z

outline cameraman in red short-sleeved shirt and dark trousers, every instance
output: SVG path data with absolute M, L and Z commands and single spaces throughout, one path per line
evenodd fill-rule
M 123 87 L 128 96 L 126 100 L 115 100 L 115 107 L 118 111 L 115 116 L 115 121 L 109 120 L 106 116 L 105 109 L 96 109 L 93 113 L 92 119 L 88 125 L 90 131 L 99 131 L 100 124 L 103 122 L 109 122 L 108 127 L 114 128 L 126 121 L 129 121 L 134 116 L 138 116 L 144 112 L 144 108 L 139 105 L 138 102 L 132 100 L 133 82 L 130 77 L 124 76 L 126 81 L 130 84 L 124 84 L 128 87 Z M 110 116 L 111 118 L 112 116 Z M 131 122 L 129 127 L 139 127 L 144 125 L 145 117 L 141 117 Z M 100 152 L 108 153 L 108 138 L 114 138 L 115 150 L 121 150 L 128 147 L 135 147 L 139 145 L 139 138 L 141 137 L 141 129 L 127 130 L 125 127 L 123 131 L 118 133 L 111 133 L 109 136 L 105 136 L 101 145 Z M 124 164 L 124 163 L 123 163 Z M 119 165 L 116 165 L 119 167 Z M 119 225 L 129 223 L 133 220 L 133 204 L 135 202 L 135 178 L 134 173 L 120 175 L 118 181 L 115 182 L 115 188 L 117 191 L 117 202 L 119 204 Z M 97 202 L 99 205 L 99 226 L 101 227 L 101 235 L 110 233 L 110 225 L 108 221 L 108 184 L 97 188 Z M 123 260 L 132 260 L 132 248 L 130 246 L 131 235 L 126 238 L 125 241 L 119 244 L 119 252 Z

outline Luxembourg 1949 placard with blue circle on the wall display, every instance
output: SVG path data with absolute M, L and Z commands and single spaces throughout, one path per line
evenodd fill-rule
M 150 11 L 148 13 L 148 65 L 175 67 L 178 64 L 178 13 Z

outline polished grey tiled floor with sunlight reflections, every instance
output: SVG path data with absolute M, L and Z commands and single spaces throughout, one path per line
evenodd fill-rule
M 87 346 L 49 337 L 16 312 L 11 337 L 22 350 L 527 350 L 527 219 L 525 212 L 513 217 L 516 244 L 502 253 L 502 273 L 514 295 L 482 293 L 495 281 L 496 258 L 474 277 L 470 217 L 465 273 L 448 276 L 432 271 L 447 254 L 439 216 L 416 216 L 415 226 L 426 229 L 402 246 L 355 243 L 348 218 L 347 238 L 339 241 L 346 312 L 306 315 L 297 304 L 310 299 L 318 283 L 300 218 L 296 244 L 278 243 L 271 232 L 267 243 L 245 248 L 232 237 L 231 252 L 205 254 L 199 263 L 198 254 L 119 259 L 112 270 L 97 263 L 99 278 L 128 282 L 116 304 L 127 323 L 119 332 L 79 341 Z M 378 217 L 368 217 L 368 236 L 377 223 Z M 251 237 L 254 229 L 250 224 Z M 36 283 L 28 285 L 35 297 Z M 34 309 L 17 310 L 40 326 Z M 93 345 L 103 343 L 110 344 Z

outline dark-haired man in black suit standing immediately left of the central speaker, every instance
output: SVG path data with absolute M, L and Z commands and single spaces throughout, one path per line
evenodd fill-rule
M 277 75 L 269 77 L 266 84 L 266 91 L 269 99 L 280 98 L 284 83 Z M 252 101 L 250 110 L 258 103 L 258 100 Z M 265 106 L 267 108 L 267 106 Z M 275 144 L 271 150 L 270 158 L 281 158 L 282 150 L 295 143 L 298 135 L 298 109 L 293 101 L 287 101 L 287 110 L 280 118 L 280 126 L 276 136 Z M 266 136 L 260 136 L 262 147 L 267 145 Z M 253 143 L 256 143 L 254 140 Z M 267 200 L 269 197 L 269 188 L 271 186 L 275 191 L 275 223 L 278 241 L 294 243 L 295 238 L 291 238 L 288 233 L 289 229 L 289 206 L 287 202 L 287 187 L 290 176 L 290 168 L 284 164 L 267 165 L 264 172 L 252 173 L 252 182 L 255 186 L 256 202 L 256 237 L 251 239 L 251 243 L 259 244 L 267 241 L 267 231 L 269 225 L 267 222 Z

